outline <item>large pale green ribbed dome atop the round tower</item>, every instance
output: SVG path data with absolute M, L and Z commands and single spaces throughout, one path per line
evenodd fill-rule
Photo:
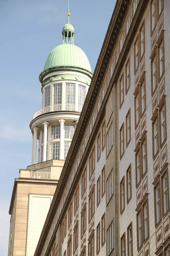
M 61 44 L 54 48 L 47 58 L 44 71 L 58 66 L 79 67 L 91 72 L 91 66 L 85 52 L 74 44 Z

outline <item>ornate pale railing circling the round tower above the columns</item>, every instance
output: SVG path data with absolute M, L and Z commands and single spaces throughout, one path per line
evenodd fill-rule
M 36 111 L 33 115 L 33 119 L 36 118 L 37 116 L 40 116 L 44 113 L 49 113 L 53 111 L 82 111 L 82 106 L 75 105 L 75 104 L 56 104 L 56 105 L 51 105 L 45 108 L 41 108 L 38 111 Z

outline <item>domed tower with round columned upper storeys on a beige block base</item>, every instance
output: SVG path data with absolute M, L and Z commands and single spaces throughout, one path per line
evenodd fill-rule
M 8 256 L 34 255 L 91 82 L 91 66 L 82 49 L 74 45 L 69 16 L 62 44 L 52 50 L 39 76 L 42 108 L 30 123 L 31 166 L 20 169 L 14 181 Z

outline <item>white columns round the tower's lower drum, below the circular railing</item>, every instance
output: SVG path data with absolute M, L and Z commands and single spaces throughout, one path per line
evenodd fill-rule
M 65 119 L 59 119 L 60 122 L 60 148 L 59 148 L 59 159 L 64 159 L 64 123 Z M 42 162 L 46 161 L 46 150 L 47 150 L 47 129 L 48 129 L 48 122 L 43 122 L 44 125 L 44 142 L 43 142 L 43 156 L 42 156 Z M 36 163 L 37 159 L 37 131 L 38 128 L 34 127 L 32 134 L 32 164 Z M 48 135 L 48 140 L 50 140 L 51 135 Z M 49 145 L 49 144 L 48 144 Z M 50 154 L 50 148 L 48 148 L 47 152 L 47 160 L 50 160 L 51 154 Z

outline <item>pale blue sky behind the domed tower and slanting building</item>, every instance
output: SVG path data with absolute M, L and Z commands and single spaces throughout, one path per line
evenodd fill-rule
M 116 0 L 70 0 L 74 44 L 94 71 Z M 41 108 L 39 74 L 67 23 L 68 0 L 0 1 L 0 255 L 8 253 L 9 204 L 14 179 L 31 164 L 34 112 Z

